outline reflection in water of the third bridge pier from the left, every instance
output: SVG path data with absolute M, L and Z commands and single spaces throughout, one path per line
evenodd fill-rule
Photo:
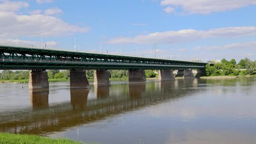
M 94 94 L 97 95 L 97 99 L 103 99 L 109 97 L 109 84 L 94 84 Z

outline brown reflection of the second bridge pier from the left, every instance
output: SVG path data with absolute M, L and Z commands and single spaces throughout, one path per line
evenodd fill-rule
M 73 109 L 85 109 L 90 89 L 70 89 L 70 102 Z

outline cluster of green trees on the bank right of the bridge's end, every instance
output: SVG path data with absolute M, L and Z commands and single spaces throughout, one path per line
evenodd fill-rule
M 256 61 L 251 61 L 248 58 L 241 59 L 238 63 L 235 59 L 227 61 L 222 59 L 220 63 L 213 66 L 206 65 L 207 76 L 245 76 L 247 74 L 256 74 Z

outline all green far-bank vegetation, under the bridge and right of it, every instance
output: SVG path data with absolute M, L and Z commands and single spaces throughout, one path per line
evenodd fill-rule
M 215 61 L 209 61 L 215 62 Z M 128 80 L 128 70 L 108 70 L 109 81 Z M 248 58 L 241 59 L 239 63 L 235 59 L 227 61 L 222 59 L 214 65 L 206 65 L 206 76 L 201 79 L 231 79 L 239 77 L 256 77 L 256 61 Z M 49 82 L 69 82 L 69 70 L 47 70 Z M 86 70 L 86 76 L 89 82 L 94 82 L 94 70 Z M 157 79 L 156 70 L 145 70 L 147 79 Z M 180 77 L 177 77 L 180 79 Z M 0 73 L 0 83 L 28 83 L 29 71 L 11 71 L 3 70 Z

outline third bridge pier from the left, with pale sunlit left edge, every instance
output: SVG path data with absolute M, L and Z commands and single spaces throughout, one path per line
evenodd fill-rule
M 108 70 L 94 71 L 94 84 L 109 84 L 109 71 Z

